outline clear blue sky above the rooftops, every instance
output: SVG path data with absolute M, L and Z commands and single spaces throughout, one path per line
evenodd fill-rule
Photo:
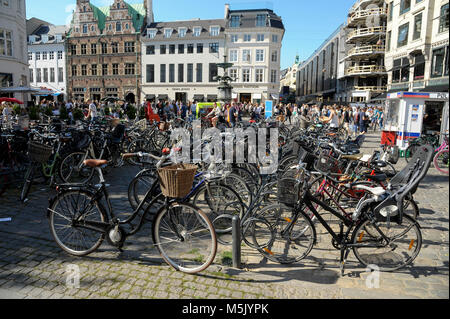
M 112 0 L 91 0 L 98 6 Z M 128 0 L 142 3 L 142 0 Z M 157 21 L 189 20 L 193 18 L 220 19 L 224 5 L 231 8 L 268 7 L 282 17 L 286 34 L 283 39 L 281 67 L 294 63 L 298 53 L 300 60 L 307 59 L 337 27 L 346 21 L 349 8 L 355 0 L 153 0 Z M 27 18 L 36 17 L 55 25 L 66 24 L 71 14 L 70 6 L 76 0 L 27 0 Z

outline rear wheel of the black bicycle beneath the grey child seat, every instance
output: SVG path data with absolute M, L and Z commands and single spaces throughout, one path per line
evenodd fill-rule
M 389 239 L 386 243 L 378 227 Z M 414 261 L 422 247 L 422 234 L 417 222 L 408 215 L 403 216 L 401 225 L 366 220 L 356 226 L 351 242 L 355 257 L 364 266 L 375 265 L 380 271 L 394 271 Z

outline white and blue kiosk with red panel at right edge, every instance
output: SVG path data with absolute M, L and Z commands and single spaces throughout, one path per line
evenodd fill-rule
M 397 92 L 386 97 L 381 144 L 408 147 L 422 134 L 448 134 L 448 93 Z

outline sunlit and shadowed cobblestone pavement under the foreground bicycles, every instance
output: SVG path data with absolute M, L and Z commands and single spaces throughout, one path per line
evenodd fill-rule
M 378 146 L 369 135 L 365 150 Z M 404 163 L 400 159 L 399 167 Z M 116 169 L 106 176 L 119 212 L 129 210 L 127 186 L 137 168 Z M 243 248 L 244 269 L 223 264 L 230 247 L 219 247 L 216 262 L 199 275 L 173 271 L 152 247 L 151 227 L 127 242 L 125 252 L 103 244 L 88 257 L 75 258 L 53 241 L 45 212 L 49 192 L 33 188 L 23 205 L 18 191 L 0 198 L 0 298 L 157 298 L 157 299 L 278 299 L 278 298 L 448 298 L 449 297 L 449 184 L 432 167 L 415 199 L 423 247 L 414 264 L 395 273 L 382 273 L 379 288 L 366 285 L 369 272 L 350 254 L 344 277 L 339 275 L 339 252 L 318 228 L 318 244 L 299 264 L 268 262 Z M 229 259 L 229 258 L 228 258 Z M 80 271 L 79 288 L 70 288 L 70 270 Z

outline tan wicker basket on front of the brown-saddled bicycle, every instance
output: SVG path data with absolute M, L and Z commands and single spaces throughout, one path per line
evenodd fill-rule
M 164 196 L 183 198 L 189 194 L 194 183 L 197 166 L 177 164 L 158 169 L 159 184 Z

